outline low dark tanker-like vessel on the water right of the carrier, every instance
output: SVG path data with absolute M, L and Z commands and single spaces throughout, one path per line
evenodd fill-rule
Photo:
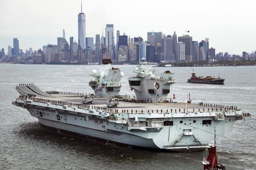
M 211 76 L 206 76 L 206 77 L 203 77 L 203 76 L 199 76 L 197 77 L 196 76 L 196 73 L 194 72 L 194 69 L 193 69 L 193 72 L 191 73 L 192 76 L 190 79 L 188 79 L 188 83 L 202 83 L 202 84 L 224 84 L 224 80 L 223 78 L 214 78 L 214 77 L 211 77 Z

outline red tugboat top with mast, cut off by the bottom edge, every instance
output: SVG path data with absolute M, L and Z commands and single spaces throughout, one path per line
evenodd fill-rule
M 214 129 L 215 132 L 215 129 Z M 204 164 L 204 170 L 226 170 L 224 166 L 218 164 L 216 145 L 215 145 L 216 135 L 214 134 L 214 141 L 208 144 L 208 157 L 204 157 L 202 163 Z

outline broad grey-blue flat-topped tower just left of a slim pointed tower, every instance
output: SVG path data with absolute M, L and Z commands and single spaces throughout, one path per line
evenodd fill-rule
M 175 61 L 173 53 L 173 38 L 171 35 L 162 38 L 162 53 L 164 54 L 164 62 L 170 63 Z

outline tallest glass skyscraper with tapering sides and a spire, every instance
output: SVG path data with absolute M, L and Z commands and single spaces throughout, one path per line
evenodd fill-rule
M 85 14 L 82 12 L 81 1 L 81 13 L 78 14 L 78 46 L 82 49 L 86 49 L 86 32 L 85 32 Z

